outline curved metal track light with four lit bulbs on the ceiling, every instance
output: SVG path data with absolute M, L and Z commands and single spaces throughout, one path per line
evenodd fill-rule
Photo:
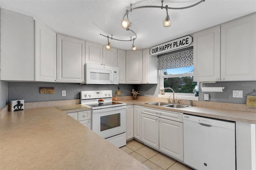
M 171 25 L 171 22 L 170 22 L 170 17 L 168 15 L 168 9 L 172 9 L 172 10 L 182 10 L 182 9 L 186 9 L 186 8 L 191 8 L 193 6 L 196 6 L 198 4 L 200 4 L 201 2 L 204 2 L 205 0 L 200 0 L 199 2 L 195 3 L 195 4 L 192 4 L 190 6 L 185 6 L 185 7 L 180 7 L 180 8 L 172 8 L 172 7 L 168 7 L 168 5 L 165 6 L 165 9 L 166 9 L 166 18 L 164 20 L 164 27 L 169 27 Z M 134 40 L 137 38 L 137 35 L 135 34 L 134 31 L 132 31 L 130 29 L 130 27 L 132 26 L 132 23 L 129 21 L 129 18 L 128 18 L 128 14 L 129 12 L 132 12 L 132 10 L 136 10 L 136 9 L 139 9 L 139 8 L 161 8 L 161 9 L 164 9 L 164 6 L 163 6 L 163 3 L 164 1 L 161 0 L 161 3 L 162 3 L 162 6 L 138 6 L 138 7 L 135 7 L 135 8 L 132 8 L 132 4 L 130 4 L 130 10 L 126 10 L 126 13 L 124 14 L 124 17 L 123 17 L 123 21 L 122 21 L 122 27 L 124 27 L 127 31 L 131 31 L 135 38 L 132 39 L 132 37 L 130 37 L 130 40 L 121 40 L 121 39 L 116 39 L 116 38 L 113 38 L 113 36 L 111 35 L 111 40 L 117 40 L 117 41 L 133 41 L 132 43 L 132 49 L 133 50 L 136 50 L 136 47 L 134 45 Z M 105 35 L 102 35 L 100 34 L 101 36 L 104 36 L 106 38 L 109 38 L 109 36 L 105 36 Z M 127 39 L 127 38 L 126 38 Z M 108 45 L 106 45 L 106 48 L 109 49 L 110 48 L 110 43 L 108 41 Z

